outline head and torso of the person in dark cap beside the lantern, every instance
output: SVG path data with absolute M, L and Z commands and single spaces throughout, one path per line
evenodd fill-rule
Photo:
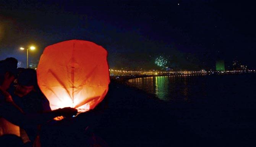
M 10 88 L 13 101 L 25 113 L 41 113 L 50 111 L 48 99 L 37 85 L 37 75 L 34 69 L 24 69 L 19 73 L 17 85 Z

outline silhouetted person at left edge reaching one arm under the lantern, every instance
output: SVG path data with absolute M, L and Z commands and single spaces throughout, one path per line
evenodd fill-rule
M 24 111 L 15 104 L 11 95 L 6 92 L 17 73 L 16 61 L 15 58 L 7 58 L 0 61 L 0 117 L 2 117 L 0 121 L 0 136 L 4 134 L 15 134 L 19 136 L 19 134 L 17 134 L 17 127 L 11 129 L 12 127 L 10 128 L 8 123 L 24 128 L 27 125 L 37 125 L 47 122 L 57 116 L 70 116 L 77 113 L 77 110 L 70 107 L 48 113 L 24 113 Z

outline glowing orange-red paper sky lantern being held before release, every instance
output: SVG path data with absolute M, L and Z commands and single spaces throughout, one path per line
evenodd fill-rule
M 107 51 L 95 43 L 69 40 L 47 46 L 37 67 L 40 89 L 52 110 L 93 109 L 109 89 Z

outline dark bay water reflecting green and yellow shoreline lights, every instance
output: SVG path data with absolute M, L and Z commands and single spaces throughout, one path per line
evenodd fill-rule
M 229 146 L 232 141 L 236 144 L 233 146 L 245 146 L 244 142 L 255 144 L 255 83 L 255 74 L 148 77 L 128 81 L 129 85 L 170 102 L 163 109 L 175 117 L 164 117 L 165 120 L 171 122 L 177 118 L 178 123 L 206 139 L 207 145 L 211 139 L 221 144 L 214 146 L 223 146 L 224 140 Z

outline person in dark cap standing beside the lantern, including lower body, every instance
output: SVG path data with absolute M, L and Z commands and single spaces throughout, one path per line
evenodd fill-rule
M 16 85 L 10 87 L 8 92 L 13 101 L 25 113 L 50 112 L 50 104 L 37 85 L 37 75 L 34 69 L 23 69 L 18 75 Z M 20 129 L 21 138 L 24 142 L 34 142 L 39 137 L 40 126 L 26 125 Z M 27 136 L 28 135 L 28 136 Z

